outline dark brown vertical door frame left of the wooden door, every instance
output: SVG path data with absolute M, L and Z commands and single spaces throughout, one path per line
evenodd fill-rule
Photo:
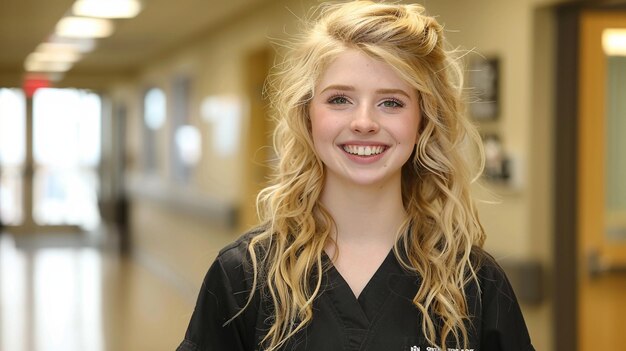
M 578 48 L 582 6 L 556 9 L 556 111 L 554 144 L 554 288 L 552 290 L 555 350 L 576 350 Z

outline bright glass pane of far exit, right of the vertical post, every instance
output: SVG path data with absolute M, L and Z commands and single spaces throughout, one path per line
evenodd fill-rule
M 95 228 L 101 99 L 76 89 L 39 89 L 33 97 L 33 219 Z

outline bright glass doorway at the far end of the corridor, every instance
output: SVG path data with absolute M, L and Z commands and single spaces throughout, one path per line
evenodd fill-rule
M 0 219 L 13 234 L 100 224 L 101 99 L 78 89 L 0 88 Z

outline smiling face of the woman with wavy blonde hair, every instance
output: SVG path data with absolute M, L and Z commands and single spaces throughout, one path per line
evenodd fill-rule
M 340 54 L 321 76 L 310 104 L 313 143 L 326 184 L 400 184 L 420 123 L 419 98 L 381 61 Z

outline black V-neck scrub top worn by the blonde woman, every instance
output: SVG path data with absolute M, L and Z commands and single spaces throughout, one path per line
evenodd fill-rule
M 250 238 L 242 236 L 224 248 L 209 269 L 177 351 L 261 351 L 259 342 L 271 326 L 271 298 L 255 293 L 241 315 L 252 285 L 247 253 Z M 483 255 L 478 270 L 480 293 L 472 280 L 466 287 L 471 316 L 466 348 L 448 350 L 534 350 L 513 289 L 491 256 Z M 328 260 L 327 257 L 325 257 Z M 358 299 L 330 265 L 323 290 L 313 303 L 313 319 L 281 351 L 438 351 L 421 331 L 421 313 L 412 298 L 420 278 L 407 272 L 393 251 L 385 258 Z M 450 344 L 452 345 L 452 344 Z

